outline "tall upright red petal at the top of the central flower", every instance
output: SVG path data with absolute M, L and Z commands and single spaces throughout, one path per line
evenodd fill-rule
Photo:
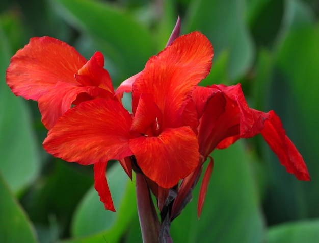
M 191 90 L 204 79 L 211 67 L 213 51 L 199 32 L 178 37 L 170 46 L 146 63 L 132 88 L 135 112 L 142 93 L 153 94 L 163 114 L 163 127 L 174 127 L 179 109 Z M 179 114 L 179 116 L 177 116 Z

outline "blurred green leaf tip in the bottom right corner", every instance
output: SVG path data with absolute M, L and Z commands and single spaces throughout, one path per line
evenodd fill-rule
M 316 242 L 319 238 L 319 220 L 298 221 L 271 227 L 268 243 Z

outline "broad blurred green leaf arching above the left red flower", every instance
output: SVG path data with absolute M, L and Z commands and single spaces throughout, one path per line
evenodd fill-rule
M 154 54 L 150 32 L 125 11 L 107 2 L 91 0 L 51 2 L 66 21 L 96 41 L 117 65 L 122 78 L 141 71 Z

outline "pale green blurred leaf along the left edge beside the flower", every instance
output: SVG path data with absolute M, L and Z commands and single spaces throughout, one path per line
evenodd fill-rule
M 0 30 L 0 172 L 17 193 L 38 176 L 40 159 L 30 111 L 21 98 L 11 93 L 5 82 L 10 60 L 10 48 L 6 41 Z

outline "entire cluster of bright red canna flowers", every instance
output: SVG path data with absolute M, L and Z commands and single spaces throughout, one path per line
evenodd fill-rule
M 132 170 L 143 175 L 159 210 L 165 211 L 163 218 L 171 221 L 190 201 L 209 158 L 200 214 L 213 167 L 211 152 L 259 133 L 287 172 L 309 180 L 275 112 L 249 108 L 240 84 L 198 86 L 209 74 L 213 48 L 199 32 L 178 35 L 116 91 L 100 52 L 87 61 L 50 37 L 32 38 L 12 57 L 7 83 L 17 96 L 38 102 L 49 130 L 43 142 L 48 153 L 94 165 L 95 188 L 108 210 L 115 211 L 105 177 L 108 161 L 118 160 L 130 178 Z M 132 113 L 122 105 L 124 91 L 131 92 Z

